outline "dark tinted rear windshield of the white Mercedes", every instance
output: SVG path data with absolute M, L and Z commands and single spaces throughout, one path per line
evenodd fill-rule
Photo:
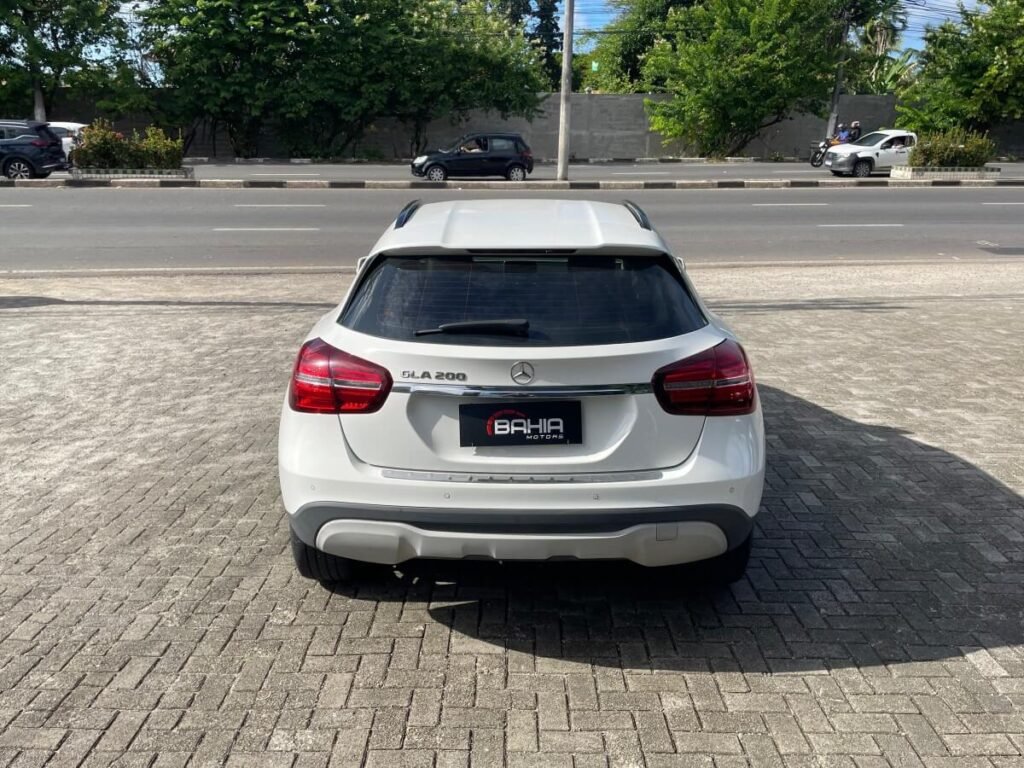
M 623 344 L 690 333 L 707 321 L 668 256 L 388 256 L 340 318 L 399 341 L 487 346 Z M 526 336 L 437 333 L 449 323 L 525 319 Z

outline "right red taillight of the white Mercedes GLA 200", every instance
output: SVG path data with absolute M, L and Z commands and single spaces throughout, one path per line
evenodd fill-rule
M 658 369 L 654 395 L 670 414 L 741 416 L 754 412 L 754 371 L 743 348 L 731 339 L 692 357 Z

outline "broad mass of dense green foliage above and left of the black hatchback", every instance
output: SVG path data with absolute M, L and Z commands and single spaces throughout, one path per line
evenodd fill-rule
M 417 133 L 473 109 L 531 114 L 544 81 L 522 29 L 482 0 L 162 0 L 147 12 L 177 111 L 252 156 L 340 154 L 376 119 Z

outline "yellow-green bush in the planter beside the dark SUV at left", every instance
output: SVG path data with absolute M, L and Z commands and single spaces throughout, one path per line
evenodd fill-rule
M 168 137 L 160 128 L 150 126 L 143 135 L 133 131 L 125 136 L 105 120 L 97 120 L 82 129 L 81 143 L 72 152 L 79 168 L 159 168 L 181 167 L 184 142 Z

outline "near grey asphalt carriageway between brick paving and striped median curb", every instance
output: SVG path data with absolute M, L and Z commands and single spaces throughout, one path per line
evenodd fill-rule
M 350 265 L 413 197 L 615 191 L 0 189 L 0 270 Z M 690 262 L 1024 257 L 1024 187 L 631 191 Z

